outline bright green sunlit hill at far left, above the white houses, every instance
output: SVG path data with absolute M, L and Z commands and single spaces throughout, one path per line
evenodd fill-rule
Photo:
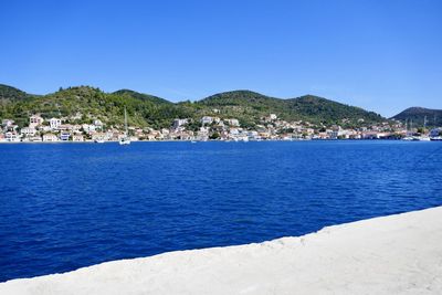
M 32 114 L 41 114 L 45 118 L 71 117 L 82 114 L 81 119 L 69 122 L 82 124 L 97 118 L 107 126 L 116 126 L 123 124 L 124 107 L 126 106 L 130 125 L 160 128 L 170 126 L 171 118 L 190 115 L 185 113 L 185 108 L 165 102 L 166 99 L 158 97 L 140 99 L 127 93 L 108 94 L 98 88 L 78 86 L 2 105 L 0 118 L 13 118 L 20 126 L 23 126 Z

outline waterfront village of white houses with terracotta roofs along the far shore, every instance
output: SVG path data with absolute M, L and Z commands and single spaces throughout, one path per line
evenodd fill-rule
M 214 109 L 215 110 L 215 109 Z M 35 114 L 29 117 L 29 124 L 19 128 L 13 119 L 1 122 L 0 143 L 61 143 L 61 141 L 117 141 L 125 137 L 124 127 L 105 126 L 99 119 L 91 124 L 70 124 L 81 117 L 43 118 Z M 378 125 L 360 128 L 343 128 L 334 126 L 315 126 L 308 122 L 285 122 L 276 114 L 261 118 L 253 129 L 243 128 L 239 119 L 222 119 L 215 116 L 203 116 L 197 130 L 188 128 L 192 120 L 177 118 L 170 128 L 156 130 L 154 128 L 128 127 L 130 140 L 309 140 L 309 139 L 440 139 L 441 128 L 422 131 L 422 128 L 410 128 L 400 122 L 383 122 Z M 345 123 L 345 120 L 343 120 Z M 364 123 L 360 119 L 359 123 Z M 420 134 L 418 133 L 420 131 Z M 417 139 L 418 138 L 418 139 Z

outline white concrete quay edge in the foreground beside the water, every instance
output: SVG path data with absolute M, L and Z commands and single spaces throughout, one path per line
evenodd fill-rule
M 0 294 L 441 294 L 442 207 L 0 283 Z

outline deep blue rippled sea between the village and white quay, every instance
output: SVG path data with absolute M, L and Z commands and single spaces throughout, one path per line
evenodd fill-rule
M 0 145 L 0 282 L 442 204 L 442 143 Z

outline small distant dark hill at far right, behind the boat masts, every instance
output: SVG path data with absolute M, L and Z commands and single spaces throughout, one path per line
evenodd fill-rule
M 422 127 L 427 117 L 427 126 L 442 126 L 442 109 L 430 109 L 424 107 L 410 107 L 393 116 L 392 119 L 398 119 L 402 123 L 406 120 L 413 123 L 415 127 Z

